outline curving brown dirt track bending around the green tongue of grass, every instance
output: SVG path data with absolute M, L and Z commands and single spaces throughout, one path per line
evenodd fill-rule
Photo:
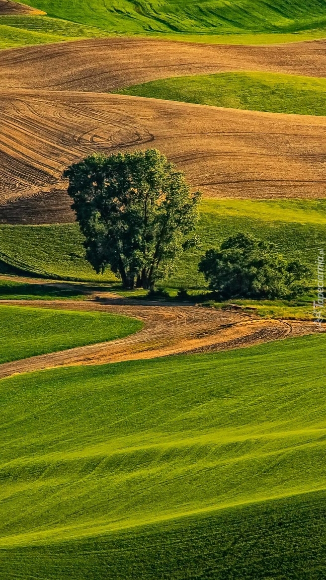
M 134 335 L 112 342 L 7 362 L 0 365 L 0 378 L 67 365 L 104 364 L 171 354 L 229 350 L 318 332 L 318 327 L 313 322 L 265 320 L 242 312 L 195 306 L 139 306 L 133 305 L 129 300 L 129 304 L 125 302 L 117 304 L 114 299 L 105 300 L 101 304 L 57 300 L 1 300 L 0 304 L 7 305 L 124 314 L 142 320 L 144 328 Z

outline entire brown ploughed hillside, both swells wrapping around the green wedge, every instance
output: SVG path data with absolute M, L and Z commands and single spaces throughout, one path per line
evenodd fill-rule
M 0 223 L 74 220 L 61 182 L 67 164 L 135 147 L 158 147 L 207 197 L 325 197 L 326 117 L 106 94 L 226 70 L 325 77 L 325 55 L 325 41 L 212 46 L 146 38 L 2 51 Z

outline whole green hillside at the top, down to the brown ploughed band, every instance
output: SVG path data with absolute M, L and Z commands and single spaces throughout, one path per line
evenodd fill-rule
M 0 48 L 112 34 L 159 35 L 190 42 L 270 44 L 326 37 L 323 0 L 27 0 L 47 16 L 1 16 Z

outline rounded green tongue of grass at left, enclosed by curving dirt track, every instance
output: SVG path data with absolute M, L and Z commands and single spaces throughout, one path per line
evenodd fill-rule
M 0 305 L 0 364 L 115 340 L 140 328 L 139 320 L 115 314 Z

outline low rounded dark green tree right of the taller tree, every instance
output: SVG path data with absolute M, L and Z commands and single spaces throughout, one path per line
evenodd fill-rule
M 228 238 L 219 250 L 209 249 L 199 270 L 222 300 L 295 298 L 308 289 L 310 274 L 299 260 L 287 262 L 272 244 L 245 234 Z

